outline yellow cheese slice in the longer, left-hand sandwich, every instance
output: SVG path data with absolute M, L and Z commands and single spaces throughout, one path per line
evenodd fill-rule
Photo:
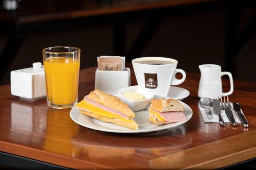
M 106 111 L 104 109 L 101 109 L 97 106 L 94 106 L 94 105 L 84 101 L 84 100 L 82 100 L 81 102 L 76 104 L 76 107 L 79 109 L 82 109 L 82 110 L 85 109 L 85 110 L 90 111 L 99 116 L 103 116 L 103 117 L 107 117 L 107 118 L 120 118 L 120 119 L 122 119 L 123 122 L 134 122 L 134 120 L 132 120 L 132 119 L 125 119 L 116 113 L 112 113 L 112 112 Z

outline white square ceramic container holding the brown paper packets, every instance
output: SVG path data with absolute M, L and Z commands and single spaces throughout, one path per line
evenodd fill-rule
M 96 70 L 95 72 L 95 89 L 117 94 L 117 90 L 131 86 L 131 71 L 125 67 L 121 71 Z

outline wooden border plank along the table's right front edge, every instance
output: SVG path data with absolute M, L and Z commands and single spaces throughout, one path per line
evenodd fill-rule
M 256 157 L 255 136 L 256 130 L 252 130 L 212 141 L 152 159 L 149 161 L 150 167 L 152 169 L 216 169 L 239 163 Z M 177 164 L 177 158 L 182 164 Z

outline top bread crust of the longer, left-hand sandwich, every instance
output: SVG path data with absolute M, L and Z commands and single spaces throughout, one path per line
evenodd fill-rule
M 135 113 L 129 108 L 129 106 L 127 106 L 114 95 L 110 95 L 108 93 L 95 89 L 89 94 L 89 99 L 98 102 L 104 106 L 116 109 L 129 117 L 135 117 Z

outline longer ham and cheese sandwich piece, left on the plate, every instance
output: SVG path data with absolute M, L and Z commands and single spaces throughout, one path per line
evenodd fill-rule
M 125 128 L 138 130 L 138 124 L 132 119 L 135 113 L 119 98 L 95 89 L 76 104 L 80 113 L 116 124 Z

